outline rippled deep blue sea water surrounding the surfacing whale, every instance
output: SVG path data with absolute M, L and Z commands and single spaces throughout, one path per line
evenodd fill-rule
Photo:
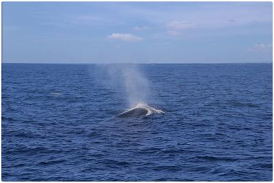
M 124 119 L 110 66 L 2 64 L 3 181 L 272 180 L 272 64 L 140 64 Z

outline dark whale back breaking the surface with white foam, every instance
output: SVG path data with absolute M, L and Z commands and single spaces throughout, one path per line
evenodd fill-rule
M 138 103 L 137 106 L 118 114 L 116 117 L 126 118 L 126 117 L 140 117 L 140 116 L 149 116 L 150 114 L 164 114 L 164 111 L 157 110 L 151 106 L 147 106 L 145 103 Z

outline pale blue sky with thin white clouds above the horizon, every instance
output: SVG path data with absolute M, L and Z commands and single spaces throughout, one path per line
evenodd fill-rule
M 272 62 L 271 2 L 3 2 L 4 63 Z

